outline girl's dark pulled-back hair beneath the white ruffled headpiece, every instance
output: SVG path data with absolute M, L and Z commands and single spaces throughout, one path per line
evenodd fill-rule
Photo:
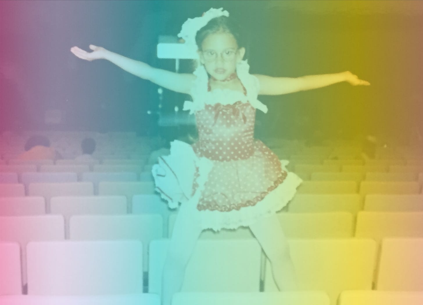
M 238 47 L 245 47 L 245 41 L 241 35 L 241 28 L 233 19 L 226 16 L 220 16 L 211 19 L 205 26 L 203 26 L 195 35 L 195 42 L 197 43 L 198 50 L 201 50 L 201 44 L 204 39 L 213 33 L 224 32 L 230 33 L 235 37 Z

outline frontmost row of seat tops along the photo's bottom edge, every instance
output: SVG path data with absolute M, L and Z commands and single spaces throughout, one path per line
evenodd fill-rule
M 157 294 L 105 296 L 8 296 L 0 297 L 3 305 L 160 305 Z M 323 291 L 205 293 L 179 292 L 172 305 L 330 305 Z M 421 305 L 423 292 L 399 291 L 343 291 L 338 305 Z

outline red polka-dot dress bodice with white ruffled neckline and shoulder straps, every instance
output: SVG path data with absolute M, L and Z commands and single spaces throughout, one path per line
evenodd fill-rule
M 229 89 L 210 90 L 204 67 L 197 75 L 192 90 L 193 102 L 184 110 L 195 114 L 199 140 L 192 147 L 197 155 L 215 161 L 248 159 L 254 152 L 255 109 L 267 108 L 257 100 L 258 80 L 248 73 L 247 61 L 237 66 L 237 76 L 244 92 Z

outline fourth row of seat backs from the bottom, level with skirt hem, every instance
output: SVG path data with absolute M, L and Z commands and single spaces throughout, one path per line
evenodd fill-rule
M 168 206 L 158 194 L 125 196 L 58 196 L 47 202 L 40 196 L 0 197 L 0 216 L 52 214 L 121 214 L 158 213 L 165 216 Z M 129 203 L 128 203 L 129 202 Z M 359 211 L 423 211 L 422 194 L 368 194 L 364 202 L 358 194 L 296 194 L 288 203 L 294 213 L 346 211 L 354 216 Z

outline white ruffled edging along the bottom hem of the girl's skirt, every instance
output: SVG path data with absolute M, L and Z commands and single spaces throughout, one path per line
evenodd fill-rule
M 203 230 L 237 229 L 248 227 L 259 219 L 272 216 L 284 208 L 297 192 L 302 179 L 293 172 L 288 172 L 285 180 L 273 191 L 253 206 L 242 207 L 239 211 L 197 211 Z

